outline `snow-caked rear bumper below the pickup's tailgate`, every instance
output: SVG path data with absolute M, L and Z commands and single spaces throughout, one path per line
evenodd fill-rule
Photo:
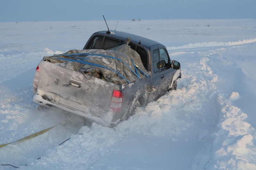
M 45 95 L 45 93 L 47 94 L 49 92 L 44 91 L 43 93 L 44 95 L 42 96 L 38 93 L 35 94 L 33 97 L 33 101 L 40 105 L 44 105 L 51 108 L 60 108 L 67 112 L 74 113 L 76 115 L 84 117 L 85 119 L 91 122 L 101 124 L 102 126 L 111 127 L 111 126 L 115 126 L 119 122 L 119 120 L 112 122 L 115 116 L 113 112 L 106 112 L 101 109 L 96 109 L 89 106 L 85 106 L 83 104 L 78 104 L 74 101 L 67 100 L 57 95 L 55 97 L 52 97 L 54 96 L 54 94 L 49 93 L 50 95 Z M 42 94 L 42 91 L 41 91 L 41 94 Z M 47 100 L 44 98 L 47 98 Z M 54 100 L 52 98 L 54 98 Z

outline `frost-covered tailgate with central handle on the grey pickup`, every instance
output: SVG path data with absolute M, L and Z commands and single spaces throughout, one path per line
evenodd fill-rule
M 116 86 L 115 83 L 91 77 L 46 61 L 43 62 L 38 81 L 38 91 L 42 90 L 53 94 L 52 96 L 41 94 L 41 96 L 43 98 L 48 97 L 48 100 L 53 103 L 58 102 L 75 108 L 75 106 L 72 106 L 75 102 L 106 112 L 109 110 L 112 92 Z M 55 100 L 54 96 L 58 96 L 58 101 Z M 83 111 L 83 109 L 75 109 Z

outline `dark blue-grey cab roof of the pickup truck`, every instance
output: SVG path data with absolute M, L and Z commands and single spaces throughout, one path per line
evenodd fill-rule
M 109 33 L 110 32 L 110 33 Z M 94 34 L 105 34 L 105 35 L 111 35 L 111 36 L 116 36 L 116 37 L 120 37 L 122 39 L 126 39 L 127 37 L 131 37 L 132 39 L 132 43 L 134 44 L 138 44 L 139 42 L 141 42 L 141 45 L 145 46 L 146 48 L 149 48 L 153 45 L 158 45 L 158 44 L 161 44 L 161 43 L 158 43 L 154 40 L 150 40 L 148 38 L 145 38 L 145 37 L 142 37 L 142 36 L 139 36 L 139 35 L 134 35 L 134 34 L 130 34 L 130 33 L 125 33 L 125 32 L 122 32 L 122 31 L 115 31 L 115 30 L 106 30 L 106 31 L 99 31 L 99 32 L 96 32 Z

